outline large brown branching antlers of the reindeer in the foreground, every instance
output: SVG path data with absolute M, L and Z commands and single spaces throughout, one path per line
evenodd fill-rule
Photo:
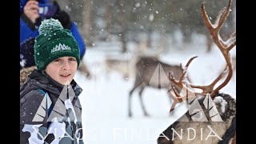
M 212 24 L 210 22 L 210 19 L 209 19 L 208 15 L 206 14 L 204 3 L 202 3 L 202 6 L 201 6 L 202 18 L 205 22 L 207 29 L 210 32 L 210 36 L 211 36 L 211 38 L 213 38 L 214 43 L 218 46 L 218 49 L 221 50 L 222 55 L 224 56 L 224 58 L 226 60 L 225 70 L 223 70 L 223 72 L 221 74 L 219 74 L 218 77 L 214 80 L 214 82 L 210 83 L 210 85 L 208 85 L 208 86 L 190 85 L 192 88 L 201 89 L 202 93 L 200 93 L 200 94 L 202 94 L 202 95 L 206 95 L 209 93 L 210 96 L 214 97 L 214 95 L 216 95 L 219 90 L 221 90 L 224 86 L 226 86 L 226 84 L 228 82 L 230 82 L 230 79 L 232 78 L 232 75 L 233 75 L 232 63 L 230 60 L 230 50 L 232 50 L 232 48 L 236 45 L 236 33 L 234 32 L 233 34 L 231 34 L 230 38 L 227 39 L 226 42 L 224 42 L 219 35 L 219 31 L 221 30 L 222 26 L 226 22 L 227 16 L 230 14 L 231 1 L 232 0 L 229 0 L 228 6 L 224 7 L 222 10 L 219 11 L 214 24 Z M 174 82 L 175 85 L 177 85 L 179 88 L 182 89 L 184 87 L 184 80 L 186 79 L 186 77 L 185 77 L 186 70 L 187 70 L 188 66 L 190 65 L 190 62 L 192 62 L 192 60 L 194 58 L 196 58 L 196 57 L 190 58 L 190 61 L 187 62 L 186 68 L 185 68 L 185 70 L 183 70 L 182 77 L 179 79 L 179 81 L 175 80 L 174 77 L 172 76 L 172 74 L 169 74 L 170 82 Z M 216 89 L 214 89 L 214 86 L 216 85 L 216 83 L 220 79 L 222 79 L 222 77 L 226 74 L 227 71 L 228 71 L 228 75 L 227 75 L 226 79 L 224 80 L 224 82 L 222 82 L 222 84 L 220 84 Z M 179 95 L 177 93 L 177 91 L 174 89 L 174 87 L 172 89 L 174 90 L 174 94 L 176 95 L 175 98 L 177 98 L 178 101 L 174 101 L 173 105 L 171 106 L 171 110 L 173 110 L 173 108 L 177 104 L 177 102 L 180 102 L 180 100 L 181 100 L 181 95 Z M 170 94 L 170 95 L 172 98 L 174 98 L 174 96 L 172 94 Z

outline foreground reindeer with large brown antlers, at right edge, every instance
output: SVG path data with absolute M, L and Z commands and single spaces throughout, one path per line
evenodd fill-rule
M 218 13 L 214 24 L 211 24 L 206 14 L 204 3 L 202 3 L 201 10 L 203 20 L 207 29 L 210 31 L 214 43 L 218 46 L 218 49 L 221 50 L 226 60 L 226 68 L 223 70 L 222 74 L 218 75 L 214 82 L 208 86 L 187 85 L 186 70 L 189 65 L 187 65 L 186 69 L 182 72 L 182 78 L 180 78 L 179 81 L 176 80 L 172 74 L 169 74 L 170 82 L 173 82 L 184 92 L 183 94 L 182 92 L 178 94 L 178 91 L 172 86 L 173 91 L 170 91 L 169 94 L 170 97 L 174 99 L 174 103 L 170 108 L 170 112 L 177 110 L 174 109 L 177 103 L 181 105 L 186 103 L 188 110 L 186 114 L 183 114 L 181 118 L 159 135 L 158 144 L 236 143 L 236 100 L 229 94 L 219 92 L 219 90 L 230 82 L 233 74 L 230 50 L 236 45 L 235 32 L 230 35 L 230 38 L 226 42 L 219 36 L 219 31 L 230 13 L 230 6 L 231 0 L 229 0 L 228 6 Z M 219 86 L 214 88 L 217 82 L 225 75 L 227 75 L 226 79 Z M 196 89 L 200 89 L 202 92 L 194 92 Z M 198 96 L 198 94 L 201 96 Z M 197 102 L 198 107 L 193 107 L 195 106 L 194 103 Z M 194 110 L 192 108 L 194 108 Z M 199 134 L 197 133 L 198 135 L 191 137 L 191 132 L 198 132 Z

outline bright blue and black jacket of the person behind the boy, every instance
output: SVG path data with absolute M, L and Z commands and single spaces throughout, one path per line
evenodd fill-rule
M 39 3 L 47 3 L 49 0 L 39 0 Z M 42 18 L 38 18 L 36 23 L 32 23 L 29 18 L 23 13 L 24 6 L 27 0 L 20 0 L 20 68 L 34 66 L 34 38 L 39 34 L 38 26 L 40 25 Z M 58 6 L 57 2 L 54 2 Z M 80 58 L 82 59 L 86 53 L 86 44 L 83 41 L 82 35 L 78 31 L 78 27 L 74 22 L 70 21 L 70 16 L 65 11 L 60 10 L 54 15 L 55 19 L 58 19 L 65 29 L 68 29 L 73 34 L 74 38 L 78 42 L 80 49 Z M 31 45 L 32 44 L 32 45 Z

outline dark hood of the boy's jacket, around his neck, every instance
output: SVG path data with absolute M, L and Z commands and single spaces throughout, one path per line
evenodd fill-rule
M 82 88 L 78 86 L 74 80 L 70 83 L 73 87 L 75 93 L 79 95 L 82 92 Z M 58 96 L 64 85 L 54 81 L 54 79 L 50 78 L 50 76 L 44 72 L 39 73 L 38 70 L 32 71 L 32 73 L 28 76 L 27 82 L 21 86 L 20 88 L 20 96 L 26 95 L 31 90 L 44 90 L 47 93 L 54 94 Z

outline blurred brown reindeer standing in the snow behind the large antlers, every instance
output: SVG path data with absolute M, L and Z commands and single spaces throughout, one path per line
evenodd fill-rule
M 160 74 L 161 70 L 164 71 L 164 74 Z M 161 62 L 158 60 L 158 57 L 154 56 L 140 56 L 138 58 L 138 61 L 136 62 L 135 82 L 133 88 L 130 90 L 128 99 L 129 117 L 133 115 L 131 111 L 131 97 L 134 93 L 134 90 L 136 89 L 139 90 L 138 96 L 142 106 L 142 111 L 145 116 L 149 116 L 143 103 L 142 92 L 145 90 L 146 86 L 157 89 L 166 89 L 167 92 L 168 86 L 170 84 L 168 80 L 168 73 L 170 71 L 174 74 L 175 78 L 182 77 L 182 66 L 170 65 L 165 62 Z M 158 74 L 158 78 L 153 78 L 154 73 Z

